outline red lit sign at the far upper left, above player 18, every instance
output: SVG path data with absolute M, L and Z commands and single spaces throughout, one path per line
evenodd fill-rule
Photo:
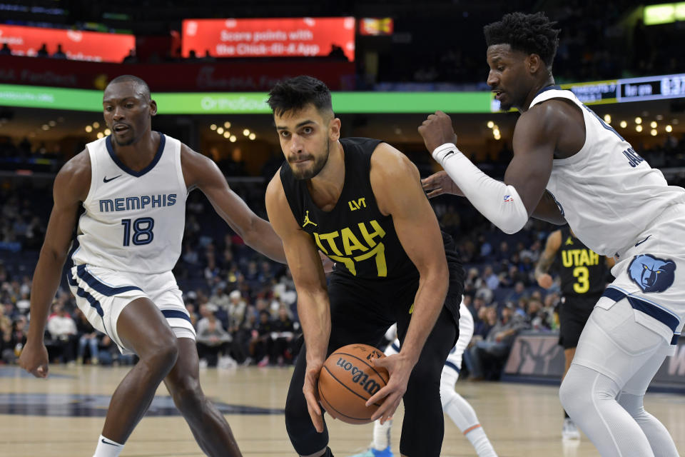
M 57 45 L 61 44 L 67 59 L 121 63 L 128 51 L 136 48 L 136 37 L 0 24 L 0 44 L 4 43 L 15 56 L 36 56 L 44 44 L 48 54 L 52 55 L 57 51 Z

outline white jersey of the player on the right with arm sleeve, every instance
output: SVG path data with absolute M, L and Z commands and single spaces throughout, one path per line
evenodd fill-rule
M 585 120 L 585 144 L 568 159 L 554 159 L 547 190 L 576 236 L 593 251 L 614 256 L 633 246 L 656 216 L 685 203 L 685 190 L 669 186 L 617 131 L 572 91 L 547 89 L 530 106 L 567 99 Z

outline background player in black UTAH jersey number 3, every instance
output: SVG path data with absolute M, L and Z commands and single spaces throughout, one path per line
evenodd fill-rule
M 542 288 L 552 287 L 549 268 L 558 265 L 562 283 L 562 304 L 559 306 L 559 344 L 564 348 L 564 376 L 576 353 L 578 339 L 595 303 L 607 288 L 607 270 L 614 259 L 600 256 L 585 246 L 569 226 L 553 231 L 535 266 L 535 279 Z M 562 438 L 579 439 L 580 433 L 566 411 Z

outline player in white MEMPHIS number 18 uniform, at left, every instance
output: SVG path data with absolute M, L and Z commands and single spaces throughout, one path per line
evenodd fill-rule
M 68 256 L 78 307 L 122 352 L 141 359 L 111 398 L 95 456 L 121 453 L 161 381 L 204 453 L 240 456 L 228 423 L 200 387 L 195 331 L 171 273 L 181 254 L 188 191 L 200 189 L 249 246 L 282 262 L 283 246 L 270 224 L 229 189 L 213 161 L 151 131 L 157 105 L 145 81 L 113 79 L 103 111 L 112 135 L 88 144 L 55 179 L 20 364 L 34 376 L 48 374 L 43 332 Z M 85 212 L 67 254 L 81 204 Z

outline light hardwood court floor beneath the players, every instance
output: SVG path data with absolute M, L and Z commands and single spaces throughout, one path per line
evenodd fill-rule
M 0 456 L 91 457 L 108 398 L 127 371 L 123 367 L 51 366 L 51 377 L 45 381 L 27 377 L 16 367 L 0 367 Z M 290 373 L 290 368 L 251 367 L 201 371 L 205 393 L 226 412 L 245 456 L 295 455 L 282 413 Z M 577 446 L 562 445 L 557 387 L 460 381 L 457 390 L 477 411 L 500 457 L 599 456 L 585 437 Z M 183 418 L 164 416 L 173 412 L 166 388 L 161 387 L 158 396 L 151 413 L 133 431 L 122 457 L 202 456 Z M 392 434 L 395 455 L 401 408 Z M 646 408 L 664 422 L 685 453 L 685 396 L 650 393 Z M 370 442 L 371 425 L 328 424 L 336 457 L 359 452 Z M 470 443 L 446 417 L 442 456 L 473 455 Z

